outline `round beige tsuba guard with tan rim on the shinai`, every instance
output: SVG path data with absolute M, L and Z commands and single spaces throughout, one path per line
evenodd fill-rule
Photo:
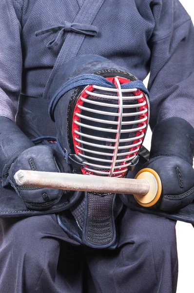
M 162 192 L 159 175 L 153 169 L 144 168 L 136 174 L 135 178 L 147 180 L 150 186 L 150 190 L 145 195 L 134 194 L 137 203 L 146 208 L 154 206 Z

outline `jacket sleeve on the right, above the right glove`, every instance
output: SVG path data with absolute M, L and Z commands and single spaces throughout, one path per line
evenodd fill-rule
M 153 128 L 169 117 L 194 126 L 194 26 L 178 0 L 152 1 L 150 91 Z

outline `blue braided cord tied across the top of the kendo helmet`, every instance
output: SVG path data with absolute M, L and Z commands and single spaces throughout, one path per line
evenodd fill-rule
M 58 103 L 58 101 L 60 100 L 60 98 L 69 90 L 77 87 L 77 86 L 83 86 L 83 85 L 98 85 L 98 86 L 103 86 L 103 87 L 109 87 L 109 88 L 116 88 L 115 84 L 113 84 L 112 82 L 110 82 L 109 80 L 107 80 L 106 78 L 100 76 L 100 75 L 96 75 L 96 74 L 82 74 L 79 75 L 73 79 L 71 79 L 70 81 L 66 82 L 65 84 L 61 85 L 57 92 L 55 93 L 55 95 L 53 96 L 50 105 L 49 105 L 49 115 L 51 117 L 51 119 L 53 121 L 55 121 L 54 119 L 54 111 L 55 111 L 55 107 Z M 126 84 L 121 84 L 121 88 L 122 89 L 131 89 L 131 88 L 138 88 L 142 91 L 144 91 L 144 93 L 146 93 L 149 97 L 149 92 L 147 90 L 147 88 L 145 87 L 145 85 L 143 84 L 142 81 L 135 81 L 135 82 L 129 82 Z

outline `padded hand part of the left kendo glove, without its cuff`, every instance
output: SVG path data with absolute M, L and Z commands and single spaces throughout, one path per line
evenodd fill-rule
M 23 199 L 28 209 L 49 209 L 60 200 L 63 190 L 17 186 L 14 175 L 19 169 L 60 172 L 56 152 L 50 146 L 33 146 L 24 150 L 9 169 L 8 182 Z M 62 170 L 61 170 L 62 171 Z

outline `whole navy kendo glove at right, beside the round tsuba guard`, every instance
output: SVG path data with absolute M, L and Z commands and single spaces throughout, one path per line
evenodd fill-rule
M 173 117 L 154 127 L 150 160 L 143 168 L 159 175 L 162 194 L 156 203 L 162 211 L 175 212 L 194 199 L 194 128 Z

